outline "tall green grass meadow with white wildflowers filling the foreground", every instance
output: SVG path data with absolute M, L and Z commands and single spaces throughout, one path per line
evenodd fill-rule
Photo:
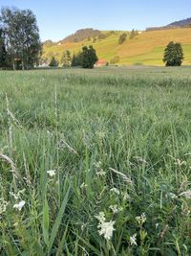
M 191 255 L 190 68 L 0 73 L 1 255 Z

